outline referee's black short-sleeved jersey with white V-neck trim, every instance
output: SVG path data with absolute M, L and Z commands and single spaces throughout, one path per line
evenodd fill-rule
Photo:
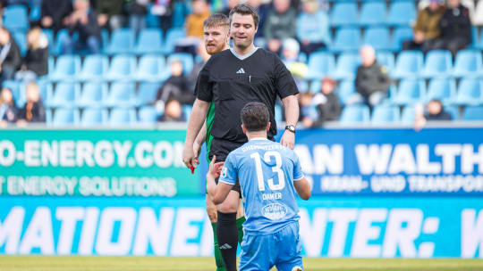
M 298 94 L 292 74 L 275 53 L 255 48 L 240 56 L 233 49 L 214 54 L 199 72 L 197 98 L 215 102 L 211 134 L 218 139 L 246 142 L 240 112 L 250 102 L 267 105 L 271 127 L 268 137 L 276 135 L 275 100 Z

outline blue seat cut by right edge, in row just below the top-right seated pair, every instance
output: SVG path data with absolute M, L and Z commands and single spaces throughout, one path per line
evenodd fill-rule
M 456 54 L 453 76 L 468 77 L 483 74 L 481 52 L 476 50 L 462 50 Z

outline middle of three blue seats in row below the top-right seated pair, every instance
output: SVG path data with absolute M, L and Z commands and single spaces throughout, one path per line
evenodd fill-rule
M 426 55 L 426 62 L 419 75 L 423 78 L 445 77 L 453 71 L 452 55 L 449 51 L 434 50 Z

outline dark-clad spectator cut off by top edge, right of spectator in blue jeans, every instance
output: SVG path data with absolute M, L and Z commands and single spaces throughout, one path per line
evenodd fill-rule
M 124 26 L 124 0 L 99 0 L 96 4 L 97 23 L 109 30 L 122 29 Z

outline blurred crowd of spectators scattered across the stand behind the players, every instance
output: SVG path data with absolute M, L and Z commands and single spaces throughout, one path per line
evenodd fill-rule
M 9 4 L 30 4 L 41 2 L 38 21 L 31 21 L 27 35 L 27 53 L 21 57 L 8 29 L 0 28 L 0 80 L 17 79 L 30 82 L 47 74 L 47 38 L 41 29 L 68 29 L 69 37 L 64 39 L 63 53 L 100 53 L 102 48 L 101 30 L 109 32 L 129 27 L 136 33 L 147 27 L 148 13 L 159 21 L 164 31 L 173 27 L 184 27 L 186 37 L 179 40 L 175 52 L 187 52 L 207 61 L 208 56 L 199 46 L 203 37 L 203 20 L 211 12 L 228 14 L 239 0 L 3 0 L 2 6 Z M 470 10 L 460 0 L 448 0 L 445 4 L 438 0 L 420 1 L 415 21 L 413 39 L 402 44 L 403 50 L 445 49 L 453 56 L 471 42 Z M 325 0 L 249 0 L 260 15 L 256 45 L 277 53 L 297 81 L 308 73 L 307 59 L 311 53 L 324 50 L 331 42 L 328 8 Z M 30 5 L 29 5 L 30 6 Z M 360 48 L 361 64 L 357 69 L 355 88 L 346 104 L 367 104 L 372 110 L 383 103 L 388 89 L 393 83 L 384 65 L 377 62 L 376 51 L 369 45 Z M 165 80 L 157 93 L 157 108 L 164 111 L 159 120 L 184 121 L 183 104 L 192 104 L 192 88 L 199 67 L 184 75 L 182 62 L 169 62 L 171 76 Z M 38 87 L 37 87 L 38 88 Z M 29 97 L 25 108 L 19 110 L 12 102 L 8 88 L 2 90 L 0 98 L 0 119 L 2 123 L 20 121 L 45 121 L 41 98 L 36 93 L 35 83 L 27 87 Z M 301 89 L 303 92 L 306 90 Z M 341 103 L 337 97 L 337 82 L 333 78 L 323 78 L 316 93 L 300 95 L 301 121 L 306 127 L 321 126 L 326 121 L 337 120 L 341 113 Z M 426 115 L 419 119 L 448 119 L 439 101 L 439 112 L 428 104 Z M 440 116 L 443 112 L 443 117 Z M 426 117 L 425 117 L 426 116 Z M 451 117 L 450 117 L 451 118 Z

